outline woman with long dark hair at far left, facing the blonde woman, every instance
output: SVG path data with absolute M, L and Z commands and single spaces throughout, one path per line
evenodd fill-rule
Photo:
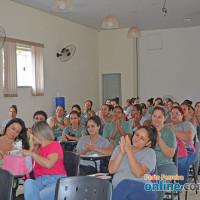
M 16 145 L 16 143 L 18 143 Z M 26 136 L 26 127 L 24 122 L 15 118 L 10 120 L 4 129 L 4 135 L 0 137 L 0 168 L 2 167 L 3 157 L 9 151 L 14 150 L 17 146 L 19 149 L 28 149 L 28 142 Z

